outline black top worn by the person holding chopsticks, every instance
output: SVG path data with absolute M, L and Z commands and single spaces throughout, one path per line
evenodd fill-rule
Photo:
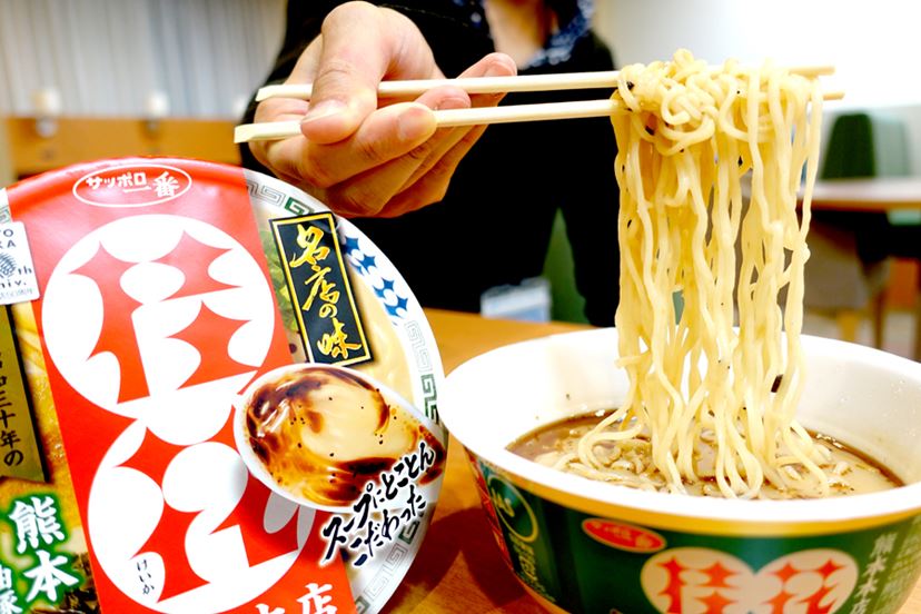
M 575 0 L 548 2 L 559 4 L 554 9 L 563 17 L 577 12 Z M 289 1 L 285 42 L 267 82 L 290 75 L 323 18 L 339 3 Z M 494 50 L 477 0 L 375 3 L 409 17 L 448 77 Z M 610 49 L 587 26 L 571 38 L 564 52 L 519 73 L 614 68 Z M 606 90 L 509 93 L 503 105 L 607 96 Z M 245 122 L 254 110 L 251 103 Z M 613 326 L 618 299 L 615 148 L 606 118 L 491 126 L 460 162 L 444 200 L 398 218 L 351 221 L 394 263 L 423 306 L 478 311 L 484 290 L 541 275 L 561 209 L 585 315 L 592 324 Z M 268 172 L 246 145 L 241 155 L 245 167 Z

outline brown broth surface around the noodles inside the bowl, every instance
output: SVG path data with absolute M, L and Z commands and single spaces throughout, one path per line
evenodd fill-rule
M 507 449 L 529 460 L 539 462 L 538 457 L 543 455 L 559 453 L 567 446 L 574 446 L 583 435 L 604 418 L 604 413 L 594 413 L 574 416 L 543 426 L 514 440 L 507 446 Z M 832 466 L 840 462 L 848 463 L 850 466 L 850 471 L 846 473 L 848 485 L 833 486 L 832 495 L 871 493 L 904 485 L 891 471 L 860 450 L 821 434 L 812 433 L 812 436 L 831 449 Z M 651 463 L 651 459 L 646 459 L 646 464 L 648 463 Z M 710 484 L 710 487 L 707 487 L 707 484 Z M 697 484 L 685 484 L 685 487 L 690 494 L 713 495 L 713 491 L 716 491 L 719 496 L 715 479 L 712 477 L 703 477 Z M 770 484 L 762 487 L 762 496 L 765 498 L 790 497 L 790 495 L 784 495 Z

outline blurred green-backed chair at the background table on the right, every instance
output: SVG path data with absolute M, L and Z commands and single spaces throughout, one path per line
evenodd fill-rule
M 822 179 L 908 174 L 908 141 L 900 120 L 868 112 L 834 119 Z M 845 340 L 856 340 L 858 327 L 869 314 L 873 345 L 882 346 L 892 227 L 887 212 L 813 211 L 804 304 L 833 315 Z

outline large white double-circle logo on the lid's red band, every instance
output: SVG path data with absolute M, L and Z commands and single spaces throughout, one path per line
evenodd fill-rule
M 100 440 L 108 449 L 87 525 L 106 574 L 138 603 L 160 612 L 237 607 L 283 577 L 307 541 L 314 513 L 271 495 L 257 529 L 296 537 L 289 552 L 249 561 L 258 535 L 225 523 L 248 473 L 232 445 L 210 440 L 265 360 L 275 317 L 273 291 L 246 249 L 178 216 L 108 224 L 73 245 L 49 279 L 42 326 L 51 359 L 80 395 L 131 420 Z M 201 337 L 215 326 L 221 338 Z M 211 379 L 215 370 L 226 376 Z M 152 456 L 165 458 L 159 474 L 137 460 L 149 446 L 168 450 Z M 189 518 L 185 534 L 158 531 L 177 514 Z

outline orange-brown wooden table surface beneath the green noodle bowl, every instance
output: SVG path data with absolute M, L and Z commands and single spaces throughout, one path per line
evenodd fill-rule
M 562 323 L 493 320 L 435 309 L 426 313 L 445 373 L 494 347 L 585 328 Z M 428 534 L 385 608 L 387 614 L 454 612 L 544 612 L 506 567 L 479 507 L 472 469 L 456 440 L 449 443 L 445 479 Z M 901 614 L 918 613 L 921 613 L 921 583 L 901 611 Z

